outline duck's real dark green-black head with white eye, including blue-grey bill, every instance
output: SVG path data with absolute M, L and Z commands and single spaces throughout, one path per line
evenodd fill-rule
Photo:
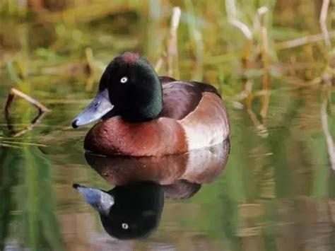
M 121 116 L 127 122 L 154 119 L 163 109 L 162 86 L 153 66 L 139 54 L 115 57 L 102 74 L 99 90 L 72 127 Z

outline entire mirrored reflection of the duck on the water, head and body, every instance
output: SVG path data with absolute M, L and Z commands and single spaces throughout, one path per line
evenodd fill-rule
M 164 199 L 188 199 L 212 182 L 228 160 L 229 141 L 179 156 L 129 158 L 95 156 L 86 160 L 112 185 L 108 192 L 74 185 L 100 214 L 108 234 L 143 238 L 158 226 Z

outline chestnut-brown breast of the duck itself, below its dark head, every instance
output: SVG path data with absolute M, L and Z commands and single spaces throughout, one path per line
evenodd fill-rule
M 160 156 L 186 152 L 187 141 L 175 119 L 127 123 L 117 116 L 95 124 L 86 135 L 84 148 L 106 156 Z

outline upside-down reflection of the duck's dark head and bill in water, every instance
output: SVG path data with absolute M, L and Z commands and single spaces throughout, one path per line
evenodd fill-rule
M 99 212 L 102 226 L 115 238 L 143 238 L 158 226 L 164 204 L 160 185 L 142 182 L 108 192 L 81 185 L 74 188 Z

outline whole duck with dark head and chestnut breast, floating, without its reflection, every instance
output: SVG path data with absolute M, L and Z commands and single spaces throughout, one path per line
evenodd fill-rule
M 230 135 L 228 111 L 214 86 L 158 76 L 136 52 L 112 59 L 98 93 L 72 122 L 98 122 L 84 148 L 102 156 L 166 156 L 215 146 Z

